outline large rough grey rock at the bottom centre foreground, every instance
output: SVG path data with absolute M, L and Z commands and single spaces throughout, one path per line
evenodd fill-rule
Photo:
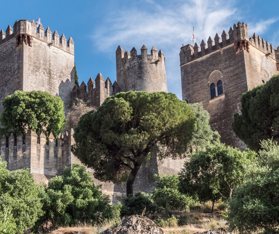
M 166 234 L 156 224 L 146 217 L 132 215 L 123 220 L 122 224 L 113 229 L 107 229 L 103 234 Z

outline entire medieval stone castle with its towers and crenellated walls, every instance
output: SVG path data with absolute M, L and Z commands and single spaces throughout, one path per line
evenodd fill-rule
M 118 46 L 116 50 L 116 81 L 112 84 L 99 73 L 96 79 L 89 78 L 78 87 L 74 84 L 74 41 L 67 41 L 64 34 L 42 24 L 36 27 L 34 20 L 16 21 L 6 32 L 0 32 L 0 101 L 16 90 L 48 91 L 59 95 L 67 112 L 74 99 L 80 98 L 88 106 L 100 106 L 106 97 L 120 91 L 166 91 L 167 78 L 165 57 L 154 46 L 151 53 L 145 45 L 141 54 L 132 48 L 130 53 Z M 183 99 L 188 102 L 202 102 L 210 113 L 210 124 L 221 135 L 221 141 L 245 147 L 232 131 L 233 114 L 240 111 L 241 94 L 256 85 L 266 82 L 279 70 L 279 48 L 275 50 L 264 39 L 248 37 L 245 23 L 234 25 L 229 38 L 223 31 L 222 42 L 216 34 L 209 37 L 207 44 L 202 40 L 201 50 L 195 44 L 181 47 L 180 68 Z M 206 48 L 206 45 L 208 47 Z M 0 111 L 1 111 L 0 107 Z M 74 130 L 46 137 L 29 130 L 23 137 L 10 135 L 1 137 L 0 153 L 7 161 L 9 170 L 30 168 L 37 182 L 47 181 L 59 174 L 65 166 L 80 162 L 71 152 L 74 144 Z M 25 139 L 25 140 L 23 140 Z M 39 143 L 38 143 L 39 142 Z M 46 143 L 47 142 L 47 143 Z M 184 159 L 165 159 L 159 162 L 153 157 L 148 165 L 142 166 L 134 183 L 134 191 L 150 192 L 154 173 L 178 173 Z M 88 168 L 88 171 L 93 171 Z M 125 186 L 109 182 L 102 191 L 108 195 L 125 194 Z

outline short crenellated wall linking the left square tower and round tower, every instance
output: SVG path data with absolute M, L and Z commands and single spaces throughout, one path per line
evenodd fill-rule
M 119 92 L 117 82 L 114 82 L 112 85 L 110 78 L 107 78 L 105 81 L 102 74 L 98 73 L 95 82 L 90 77 L 87 85 L 84 81 L 80 84 L 80 87 L 75 85 L 72 89 L 72 98 L 73 100 L 80 98 L 84 100 L 88 106 L 99 107 L 104 102 L 104 99 L 117 92 Z

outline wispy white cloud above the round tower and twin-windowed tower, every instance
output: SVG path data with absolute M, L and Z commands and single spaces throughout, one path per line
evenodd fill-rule
M 155 45 L 166 57 L 168 90 L 181 98 L 179 52 L 182 43 L 191 43 L 193 26 L 200 44 L 202 39 L 207 41 L 216 33 L 221 36 L 223 29 L 228 33 L 229 27 L 241 19 L 236 1 L 224 3 L 222 0 L 139 1 L 139 5 L 110 11 L 104 16 L 103 24 L 93 32 L 94 47 L 110 53 L 107 56 L 114 59 L 112 51 L 115 52 L 118 45 L 124 50 L 136 47 L 138 51 L 142 44 L 149 49 Z M 274 19 L 262 21 L 252 28 L 261 32 L 264 30 L 262 25 L 273 22 Z

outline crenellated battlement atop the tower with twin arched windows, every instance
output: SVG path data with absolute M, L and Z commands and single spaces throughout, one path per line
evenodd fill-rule
M 195 43 L 194 46 L 191 44 L 182 46 L 179 54 L 180 66 L 215 51 L 219 50 L 222 52 L 222 48 L 231 44 L 234 44 L 235 53 L 242 51 L 242 49 L 249 52 L 249 47 L 252 45 L 265 53 L 267 57 L 275 59 L 274 47 L 259 36 L 257 37 L 255 33 L 252 38 L 249 38 L 248 25 L 244 22 L 238 22 L 237 24 L 234 24 L 233 28 L 230 27 L 229 38 L 228 34 L 223 30 L 221 38 L 216 33 L 214 43 L 213 39 L 209 37 L 207 43 L 205 40 L 202 40 L 200 47 L 197 43 Z

